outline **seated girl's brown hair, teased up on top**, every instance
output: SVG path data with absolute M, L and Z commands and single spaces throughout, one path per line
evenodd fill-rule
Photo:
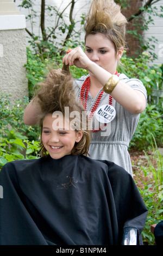
M 88 129 L 89 125 L 87 119 L 84 129 L 82 129 L 82 113 L 85 112 L 85 109 L 82 103 L 78 103 L 76 100 L 73 90 L 73 78 L 68 70 L 69 69 L 65 65 L 63 66 L 62 71 L 51 70 L 46 77 L 45 82 L 36 84 L 37 93 L 34 100 L 39 103 L 42 112 L 42 114 L 39 116 L 41 135 L 43 119 L 46 117 L 46 115 L 59 111 L 65 117 L 65 107 L 68 107 L 69 113 L 72 111 L 77 111 L 80 114 L 78 115 L 80 118 L 76 118 L 76 123 L 74 124 L 76 127 L 74 130 L 80 130 L 83 132 L 82 139 L 78 143 L 75 143 L 71 153 L 73 155 L 88 155 L 91 131 Z M 68 118 L 72 124 L 74 117 Z M 80 129 L 78 127 L 80 127 Z M 40 147 L 41 156 L 46 157 L 47 151 L 43 146 L 42 139 L 40 142 Z

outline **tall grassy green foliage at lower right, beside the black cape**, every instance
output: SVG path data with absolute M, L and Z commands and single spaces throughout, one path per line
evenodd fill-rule
M 148 209 L 145 228 L 142 231 L 143 242 L 147 245 L 154 245 L 155 241 L 151 232 L 151 225 L 163 220 L 163 156 L 158 150 L 153 135 L 151 135 L 151 144 L 153 157 L 149 157 L 145 151 L 148 167 L 139 167 L 144 176 L 143 178 L 142 176 L 140 177 L 141 185 L 136 182 Z

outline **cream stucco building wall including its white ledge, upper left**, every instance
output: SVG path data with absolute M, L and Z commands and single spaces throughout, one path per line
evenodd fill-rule
M 26 19 L 11 0 L 0 0 L 0 93 L 28 96 Z

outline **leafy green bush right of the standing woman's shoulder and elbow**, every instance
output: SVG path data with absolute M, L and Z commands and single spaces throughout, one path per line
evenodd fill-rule
M 140 114 L 139 124 L 136 128 L 133 138 L 130 142 L 130 148 L 137 150 L 151 147 L 151 133 L 153 133 L 156 143 L 162 145 L 162 100 L 154 104 L 152 89 L 162 89 L 163 72 L 161 65 L 149 65 L 151 55 L 143 52 L 137 58 L 129 58 L 124 53 L 122 56 L 122 65 L 118 67 L 119 72 L 123 72 L 129 78 L 141 80 L 146 87 L 148 104 Z

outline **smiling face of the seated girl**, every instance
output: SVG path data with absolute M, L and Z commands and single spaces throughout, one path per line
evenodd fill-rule
M 58 124 L 57 127 L 54 127 L 54 121 L 55 124 Z M 43 119 L 41 139 L 53 159 L 70 155 L 74 144 L 79 142 L 82 136 L 82 131 L 70 129 L 69 120 L 63 118 L 62 115 L 53 118 L 52 114 L 48 114 Z

